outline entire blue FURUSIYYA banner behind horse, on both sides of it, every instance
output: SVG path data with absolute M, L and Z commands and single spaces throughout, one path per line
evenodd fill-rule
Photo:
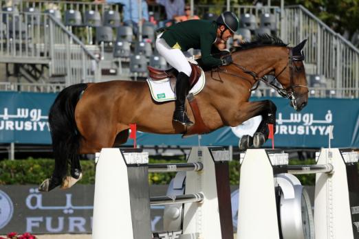
M 55 93 L 0 92 L 0 143 L 51 144 L 47 114 Z M 270 99 L 277 106 L 276 148 L 321 148 L 328 146 L 329 126 L 334 126 L 332 147 L 359 148 L 359 99 L 310 98 L 301 112 L 296 112 L 283 98 Z M 237 146 L 239 137 L 224 127 L 202 135 L 205 146 Z M 138 132 L 137 143 L 144 146 L 194 146 L 198 137 L 157 135 Z M 131 145 L 129 139 L 127 145 Z M 268 141 L 265 146 L 270 147 Z

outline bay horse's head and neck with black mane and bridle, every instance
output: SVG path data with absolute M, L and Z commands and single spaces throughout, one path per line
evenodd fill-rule
M 237 67 L 238 76 L 242 71 L 254 78 L 252 87 L 255 82 L 263 80 L 281 96 L 290 99 L 290 104 L 296 111 L 301 111 L 307 105 L 309 92 L 302 51 L 306 41 L 295 47 L 287 47 L 287 44 L 276 36 L 267 34 L 257 36 L 254 41 L 241 43 L 234 49 L 232 65 Z M 274 76 L 283 88 L 265 80 L 263 76 L 268 74 Z

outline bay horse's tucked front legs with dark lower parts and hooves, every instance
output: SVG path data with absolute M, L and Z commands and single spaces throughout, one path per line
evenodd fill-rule
M 252 146 L 255 148 L 261 147 L 268 139 L 268 124 L 273 124 L 275 130 L 276 106 L 271 100 L 247 102 L 246 104 L 243 104 L 239 110 L 240 122 L 244 122 L 257 115 L 262 115 L 263 120 L 261 124 L 259 124 L 253 137 L 251 135 L 243 135 L 243 137 L 241 137 L 239 141 L 240 150 L 246 150 Z

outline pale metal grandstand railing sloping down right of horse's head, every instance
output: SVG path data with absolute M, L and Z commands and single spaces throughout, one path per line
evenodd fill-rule
M 359 98 L 359 50 L 302 5 L 285 7 L 283 41 L 296 45 L 307 38 L 307 73 L 325 76 L 338 98 Z

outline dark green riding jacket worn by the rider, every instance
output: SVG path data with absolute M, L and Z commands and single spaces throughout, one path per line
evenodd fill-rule
M 205 67 L 222 65 L 221 60 L 210 54 L 217 38 L 217 23 L 207 20 L 189 20 L 166 27 L 161 38 L 172 47 L 187 51 L 190 48 L 201 50 L 201 59 Z

